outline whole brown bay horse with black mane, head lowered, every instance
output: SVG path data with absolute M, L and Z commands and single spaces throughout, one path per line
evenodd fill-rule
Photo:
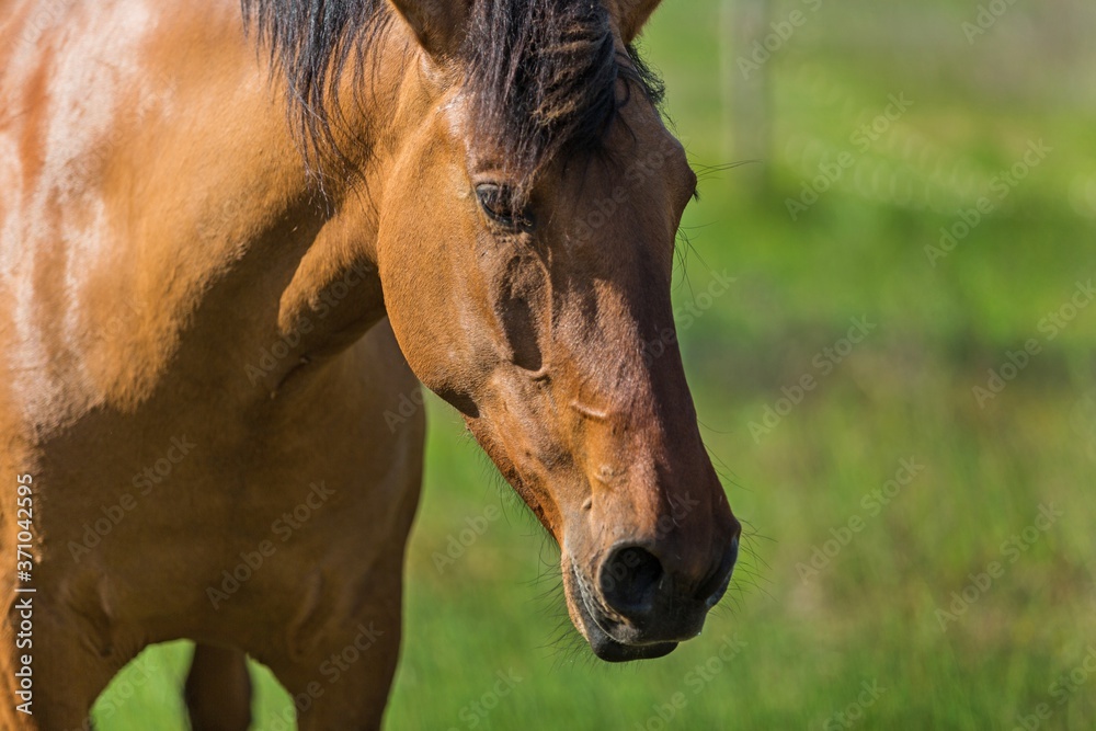
M 4 729 L 180 638 L 195 729 L 247 728 L 248 655 L 299 728 L 379 728 L 420 382 L 598 658 L 699 633 L 741 528 L 676 345 L 658 4 L 0 0 Z

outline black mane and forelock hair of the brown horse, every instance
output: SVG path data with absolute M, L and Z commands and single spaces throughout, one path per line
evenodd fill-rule
M 332 150 L 330 110 L 347 70 L 395 13 L 385 0 L 241 0 L 249 28 L 286 76 L 290 117 L 310 152 Z M 563 151 L 598 149 L 632 88 L 661 82 L 629 48 L 617 54 L 601 0 L 475 0 L 460 58 L 475 129 L 520 187 Z M 623 95 L 617 81 L 625 80 Z

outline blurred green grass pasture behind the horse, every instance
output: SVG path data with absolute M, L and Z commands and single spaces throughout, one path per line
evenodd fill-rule
M 1096 728 L 1096 25 L 1000 4 L 775 3 L 803 22 L 758 65 L 769 153 L 720 171 L 740 53 L 717 0 L 666 1 L 646 48 L 704 173 L 675 297 L 747 523 L 733 589 L 669 658 L 597 663 L 431 398 L 388 729 Z M 187 653 L 124 671 L 99 728 L 184 729 Z M 293 728 L 254 671 L 255 728 Z

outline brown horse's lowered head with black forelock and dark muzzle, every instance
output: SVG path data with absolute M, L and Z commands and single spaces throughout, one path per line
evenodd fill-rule
M 676 345 L 697 179 L 630 46 L 658 3 L 393 4 L 419 61 L 378 196 L 393 331 L 558 542 L 597 656 L 666 654 L 727 590 L 741 527 Z

